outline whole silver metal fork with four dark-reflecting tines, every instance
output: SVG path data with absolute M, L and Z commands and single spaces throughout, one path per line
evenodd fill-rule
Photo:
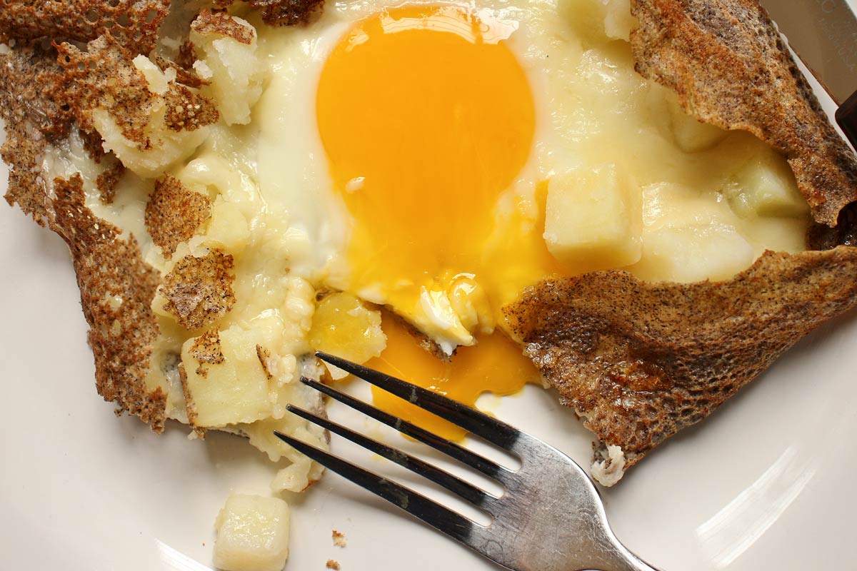
M 292 413 L 410 469 L 485 510 L 493 520 L 490 525 L 482 526 L 416 491 L 276 432 L 285 443 L 513 571 L 656 571 L 620 544 L 608 526 L 595 485 L 575 461 L 559 450 L 475 408 L 399 378 L 330 354 L 316 353 L 316 356 L 518 456 L 521 467 L 509 470 L 457 443 L 309 378 L 301 378 L 301 382 L 452 456 L 496 480 L 505 491 L 495 497 L 458 476 L 343 425 L 298 407 L 288 407 Z

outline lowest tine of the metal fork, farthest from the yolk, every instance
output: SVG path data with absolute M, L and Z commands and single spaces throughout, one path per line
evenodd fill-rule
M 317 461 L 322 466 L 330 468 L 333 472 L 338 473 L 346 479 L 350 479 L 376 496 L 382 497 L 387 502 L 393 503 L 393 505 L 404 509 L 409 514 L 417 516 L 418 519 L 425 521 L 429 526 L 433 526 L 438 531 L 446 533 L 451 538 L 466 543 L 471 532 L 483 529 L 475 521 L 469 520 L 463 515 L 453 512 L 452 509 L 448 509 L 416 491 L 405 488 L 403 485 L 382 478 L 378 474 L 364 470 L 362 467 L 355 466 L 351 462 L 338 458 L 324 450 L 317 449 L 315 446 L 310 446 L 308 443 L 304 443 L 297 438 L 290 437 L 279 431 L 274 431 L 274 434 L 280 440 L 304 455 L 309 456 L 309 458 Z

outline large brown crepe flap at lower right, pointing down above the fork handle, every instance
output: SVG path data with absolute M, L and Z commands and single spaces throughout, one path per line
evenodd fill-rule
M 548 280 L 506 318 L 601 451 L 619 446 L 630 467 L 854 306 L 857 248 L 840 246 L 767 252 L 727 282 L 645 283 L 625 271 Z

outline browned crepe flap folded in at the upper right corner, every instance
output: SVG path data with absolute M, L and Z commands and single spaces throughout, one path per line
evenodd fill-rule
M 819 223 L 857 200 L 857 158 L 757 0 L 632 0 L 636 69 L 704 122 L 749 131 L 788 158 Z

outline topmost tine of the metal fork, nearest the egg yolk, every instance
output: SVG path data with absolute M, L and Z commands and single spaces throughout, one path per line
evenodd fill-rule
M 515 441 L 520 436 L 520 431 L 513 426 L 507 425 L 505 422 L 500 422 L 498 419 L 481 413 L 476 408 L 471 408 L 440 396 L 437 393 L 418 387 L 415 384 L 406 383 L 400 378 L 391 377 L 380 371 L 369 369 L 368 367 L 357 365 L 349 360 L 340 359 L 332 354 L 322 353 L 317 351 L 315 356 L 319 359 L 330 363 L 333 366 L 338 366 L 340 369 L 350 372 L 355 377 L 362 378 L 376 387 L 380 387 L 387 392 L 399 396 L 417 407 L 428 410 L 429 413 L 440 416 L 441 419 L 446 419 L 452 422 L 453 425 L 458 425 L 464 428 L 465 431 L 475 434 L 477 437 L 494 443 L 500 448 L 511 449 Z

